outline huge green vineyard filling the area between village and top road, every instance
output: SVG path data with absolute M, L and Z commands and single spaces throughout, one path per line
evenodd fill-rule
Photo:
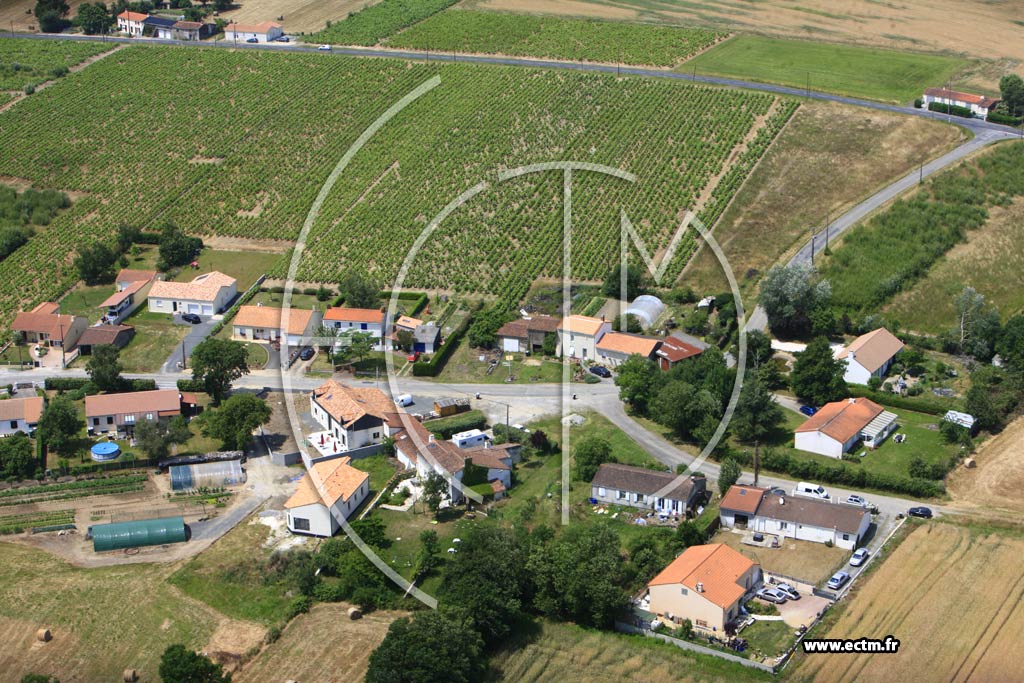
M 126 74 L 131 89 L 116 85 Z M 328 197 L 300 280 L 337 282 L 354 267 L 391 282 L 427 222 L 485 180 L 426 244 L 406 286 L 518 300 L 537 276 L 561 271 L 562 177 L 499 182 L 498 172 L 552 160 L 637 175 L 635 184 L 573 175 L 573 272 L 599 279 L 617 257 L 621 208 L 655 251 L 687 209 L 712 224 L 796 109 L 768 94 L 610 75 L 126 48 L 0 114 L 0 175 L 80 193 L 0 263 L 0 310 L 66 290 L 67 245 L 113 241 L 120 223 L 295 239 L 349 145 L 435 74 L 440 86 L 372 138 Z M 693 248 L 690 234 L 670 276 Z M 270 274 L 286 269 L 283 260 Z

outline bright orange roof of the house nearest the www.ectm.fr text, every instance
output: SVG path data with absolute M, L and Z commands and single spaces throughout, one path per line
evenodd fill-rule
M 757 563 L 722 543 L 691 546 L 651 579 L 648 586 L 682 584 L 706 600 L 728 609 L 746 593 L 737 582 Z

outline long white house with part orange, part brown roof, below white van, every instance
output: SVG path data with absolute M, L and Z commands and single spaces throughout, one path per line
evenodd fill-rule
M 722 499 L 719 521 L 727 528 L 748 528 L 853 550 L 867 532 L 871 515 L 851 505 L 734 485 Z

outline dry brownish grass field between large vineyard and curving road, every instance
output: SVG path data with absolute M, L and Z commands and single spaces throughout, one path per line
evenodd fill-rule
M 809 239 L 809 226 L 823 229 L 828 216 L 963 139 L 953 126 L 833 102 L 803 104 L 715 227 L 748 309 L 761 276 Z M 709 249 L 697 252 L 683 279 L 701 293 L 728 287 Z

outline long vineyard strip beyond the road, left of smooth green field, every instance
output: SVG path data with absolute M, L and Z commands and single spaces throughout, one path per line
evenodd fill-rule
M 385 43 L 439 52 L 673 67 L 724 37 L 705 29 L 451 10 Z

